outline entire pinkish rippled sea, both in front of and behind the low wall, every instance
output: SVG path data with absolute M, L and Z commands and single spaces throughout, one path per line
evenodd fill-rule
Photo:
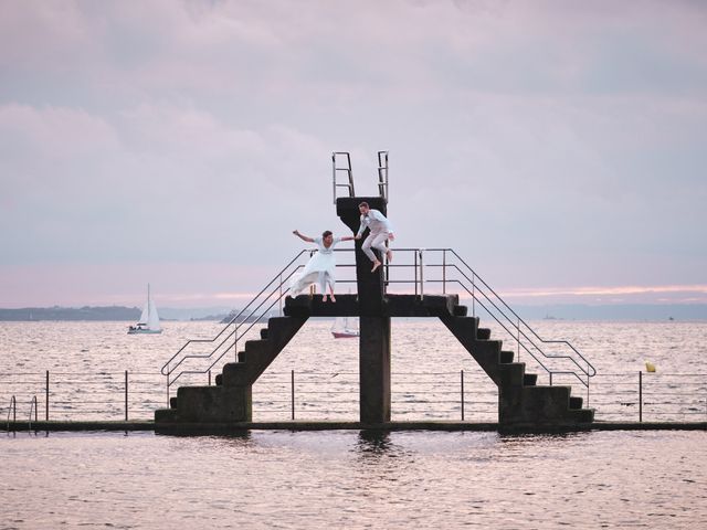
M 707 324 L 532 324 L 595 365 L 589 390 L 571 384 L 599 421 L 707 418 Z M 358 417 L 357 342 L 330 326 L 308 322 L 256 384 L 256 420 L 288 420 L 293 389 L 296 418 Z M 167 399 L 161 364 L 215 329 L 167 322 L 136 337 L 116 322 L 2 322 L 0 420 L 11 395 L 19 420 L 34 398 L 40 418 L 122 420 L 126 371 L 127 413 L 149 418 Z M 392 344 L 393 420 L 457 421 L 462 402 L 466 421 L 495 420 L 493 385 L 441 324 L 394 320 Z M 645 361 L 657 371 L 640 375 Z M 9 433 L 0 528 L 700 528 L 705 447 L 704 431 Z

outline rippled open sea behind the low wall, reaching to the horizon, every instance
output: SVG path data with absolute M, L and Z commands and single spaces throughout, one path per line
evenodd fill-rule
M 331 324 L 305 324 L 268 367 L 253 388 L 254 420 L 292 420 L 293 409 L 296 420 L 358 420 L 358 340 L 334 339 Z M 571 342 L 597 370 L 587 379 L 577 356 L 577 363 L 558 367 L 540 358 L 550 369 L 581 375 L 556 374 L 552 383 L 571 385 L 572 395 L 595 409 L 597 420 L 707 420 L 707 322 L 530 324 L 544 339 Z M 260 327 L 246 338 L 257 338 Z M 503 340 L 527 372 L 538 374 L 538 384 L 549 383 L 547 371 L 515 337 L 490 327 L 492 338 Z M 222 328 L 215 322 L 165 322 L 161 335 L 136 336 L 127 335 L 123 322 L 0 322 L 0 414 L 7 415 L 14 395 L 20 417 L 29 415 L 36 399 L 42 418 L 125 420 L 127 412 L 129 420 L 150 420 L 179 385 L 213 384 L 220 367 L 235 359 L 244 339 L 224 350 L 211 377 L 205 360 L 186 362 L 172 374 L 168 393 L 160 373 L 166 361 L 187 339 L 211 339 Z M 460 421 L 464 414 L 465 421 L 497 421 L 496 386 L 439 320 L 393 319 L 391 344 L 393 420 Z M 210 342 L 191 346 L 201 349 L 186 351 L 208 354 L 213 349 Z M 572 353 L 564 344 L 541 346 L 549 353 Z M 657 371 L 647 373 L 646 361 Z M 173 382 L 182 368 L 204 373 Z

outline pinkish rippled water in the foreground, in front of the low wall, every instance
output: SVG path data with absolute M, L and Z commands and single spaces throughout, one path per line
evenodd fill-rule
M 704 528 L 705 432 L 18 433 L 0 528 Z

